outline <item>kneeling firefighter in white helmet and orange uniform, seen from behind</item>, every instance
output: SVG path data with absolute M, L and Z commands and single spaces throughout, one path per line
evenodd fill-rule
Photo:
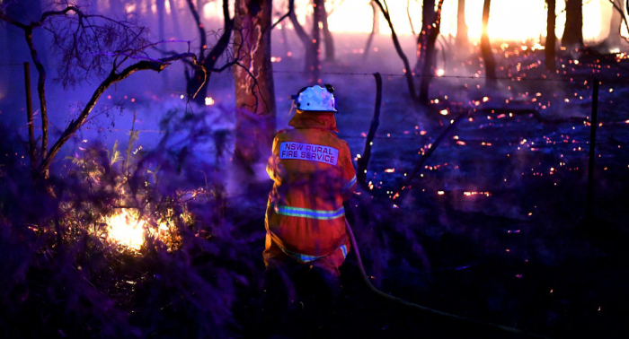
M 289 282 L 301 272 L 332 298 L 340 292 L 339 266 L 350 251 L 343 202 L 356 187 L 356 173 L 350 147 L 336 135 L 333 91 L 328 84 L 299 91 L 293 96 L 296 114 L 288 122 L 293 128 L 280 130 L 273 141 L 267 164 L 275 183 L 265 218 L 266 290 L 290 290 Z M 295 300 L 291 291 L 283 292 L 288 302 Z

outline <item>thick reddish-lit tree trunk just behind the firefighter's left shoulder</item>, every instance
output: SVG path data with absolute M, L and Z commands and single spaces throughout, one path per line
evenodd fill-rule
M 252 165 L 266 161 L 275 136 L 276 106 L 270 63 L 271 0 L 235 2 L 235 162 L 254 174 Z

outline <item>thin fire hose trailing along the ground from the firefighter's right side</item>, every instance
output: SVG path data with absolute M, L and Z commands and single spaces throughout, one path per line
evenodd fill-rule
M 393 295 L 386 294 L 385 292 L 378 290 L 369 281 L 368 275 L 365 272 L 365 266 L 362 265 L 362 259 L 360 258 L 359 245 L 356 242 L 356 238 L 354 237 L 354 232 L 351 230 L 350 222 L 348 222 L 347 219 L 345 220 L 345 228 L 347 229 L 347 232 L 350 235 L 351 246 L 354 247 L 354 253 L 356 253 L 356 258 L 358 259 L 357 261 L 359 263 L 360 275 L 362 276 L 362 280 L 365 282 L 365 284 L 367 284 L 369 290 L 373 291 L 378 296 L 383 297 L 386 300 L 393 301 L 394 303 L 402 304 L 402 305 L 404 305 L 406 307 L 409 307 L 409 308 L 412 308 L 412 309 L 420 309 L 422 311 L 426 311 L 426 312 L 429 312 L 429 313 L 432 313 L 432 314 L 436 314 L 436 315 L 439 315 L 439 316 L 443 316 L 443 317 L 450 317 L 450 318 L 454 318 L 454 319 L 457 319 L 457 320 L 462 320 L 462 321 L 466 321 L 466 322 L 473 323 L 473 324 L 479 324 L 479 325 L 483 325 L 483 326 L 491 326 L 491 327 L 494 327 L 494 328 L 498 328 L 498 329 L 500 329 L 502 331 L 510 332 L 510 333 L 513 333 L 513 334 L 516 334 L 516 335 L 527 335 L 527 336 L 534 337 L 534 338 L 548 338 L 547 336 L 528 333 L 526 331 L 523 331 L 523 330 L 515 328 L 515 327 L 503 326 L 503 325 L 500 325 L 500 324 L 493 324 L 493 323 L 490 323 L 490 322 L 485 322 L 485 321 L 482 321 L 482 320 L 473 319 L 471 317 L 463 317 L 463 316 L 458 316 L 456 314 L 443 312 L 443 311 L 440 311 L 439 309 L 431 309 L 429 307 L 421 306 L 421 305 L 416 304 L 414 302 L 411 302 L 411 301 L 408 301 L 408 300 L 403 300 L 401 298 L 394 297 Z

